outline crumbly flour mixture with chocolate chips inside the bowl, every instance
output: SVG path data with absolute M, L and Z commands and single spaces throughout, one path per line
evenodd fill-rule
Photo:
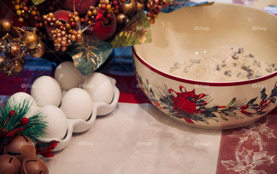
M 192 80 L 227 82 L 253 79 L 276 70 L 274 63 L 257 61 L 254 55 L 245 54 L 242 47 L 222 46 L 212 57 L 175 63 L 169 72 Z

